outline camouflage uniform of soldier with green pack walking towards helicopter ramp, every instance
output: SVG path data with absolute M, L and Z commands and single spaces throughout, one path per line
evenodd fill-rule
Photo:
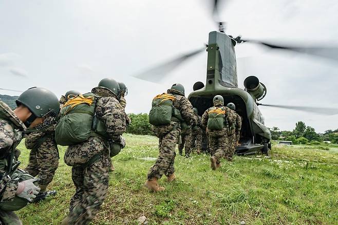
M 208 124 L 209 119 L 209 111 L 213 107 L 207 109 L 203 116 L 202 116 L 202 124 L 203 127 L 206 127 Z M 209 148 L 210 148 L 210 154 L 211 156 L 214 156 L 217 159 L 217 163 L 219 164 L 219 159 L 222 158 L 228 151 L 228 131 L 232 124 L 235 122 L 235 115 L 233 111 L 225 106 L 221 107 L 223 110 L 226 111 L 225 119 L 226 124 L 224 124 L 224 128 L 221 130 L 210 130 L 207 129 L 206 134 L 209 138 Z

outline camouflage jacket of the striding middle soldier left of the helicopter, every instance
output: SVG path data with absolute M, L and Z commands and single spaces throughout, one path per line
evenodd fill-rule
M 175 100 L 173 101 L 173 105 L 177 108 L 181 117 L 186 122 L 187 125 L 195 125 L 197 124 L 197 118 L 194 114 L 194 109 L 192 104 L 189 102 L 187 98 L 180 95 L 174 95 Z M 179 122 L 172 121 L 170 124 L 153 126 L 153 131 L 157 137 L 170 132 L 173 128 L 180 129 Z

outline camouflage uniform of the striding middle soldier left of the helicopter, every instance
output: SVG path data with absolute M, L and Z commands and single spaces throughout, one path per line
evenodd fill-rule
M 187 124 L 196 124 L 193 106 L 184 96 L 174 95 L 173 105 L 180 110 L 181 116 Z M 148 172 L 148 180 L 154 177 L 160 179 L 162 175 L 169 177 L 175 172 L 175 148 L 181 132 L 180 122 L 172 121 L 167 125 L 153 126 L 155 135 L 159 138 L 159 152 L 155 165 Z

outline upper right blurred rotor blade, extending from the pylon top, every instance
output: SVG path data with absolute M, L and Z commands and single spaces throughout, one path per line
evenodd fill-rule
M 289 50 L 298 53 L 304 53 L 309 55 L 315 55 L 317 57 L 323 57 L 331 60 L 338 61 L 338 47 L 295 47 L 295 46 L 288 46 L 288 45 L 275 45 L 268 42 L 262 41 L 255 41 L 255 40 L 240 40 L 240 42 L 250 42 L 255 44 L 264 45 L 270 49 L 281 49 L 281 50 Z

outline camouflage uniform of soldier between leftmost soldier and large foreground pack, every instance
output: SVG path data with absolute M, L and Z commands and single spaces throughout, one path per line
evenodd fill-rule
M 40 192 L 44 192 L 46 186 L 53 180 L 59 165 L 59 151 L 54 140 L 54 126 L 45 132 L 29 134 L 25 139 L 25 144 L 28 149 L 31 149 L 29 163 L 25 171 L 40 178 Z

